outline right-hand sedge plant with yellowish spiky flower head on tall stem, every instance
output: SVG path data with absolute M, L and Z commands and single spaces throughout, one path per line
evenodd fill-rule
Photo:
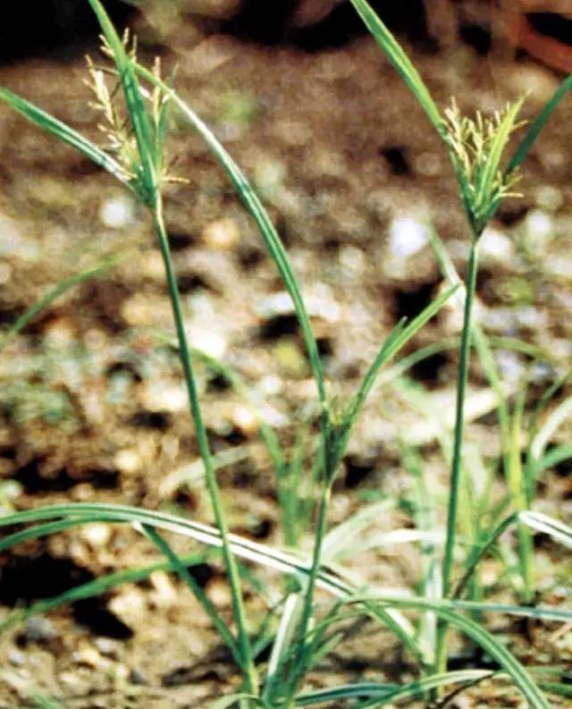
M 559 101 L 571 88 L 572 79 L 565 80 L 551 100 L 544 106 L 543 111 L 538 115 L 530 130 L 527 131 L 525 138 L 522 139 L 517 151 L 509 159 L 508 165 L 503 168 L 501 161 L 508 147 L 510 136 L 522 125 L 521 122 L 517 122 L 517 117 L 522 107 L 523 99 L 518 99 L 509 104 L 504 111 L 495 113 L 492 118 L 485 118 L 478 113 L 475 119 L 464 116 L 460 113 L 454 100 L 450 108 L 441 114 L 415 66 L 410 62 L 395 38 L 391 36 L 391 33 L 383 25 L 380 18 L 374 13 L 371 6 L 366 0 L 351 0 L 351 2 L 366 23 L 368 30 L 382 47 L 383 52 L 400 73 L 409 89 L 411 89 L 416 101 L 423 108 L 427 118 L 433 124 L 433 128 L 442 139 L 450 156 L 450 162 L 458 181 L 459 198 L 467 215 L 469 231 L 467 278 L 465 283 L 463 327 L 459 346 L 457 406 L 451 456 L 447 533 L 442 559 L 442 594 L 444 597 L 448 597 L 452 587 L 454 554 L 456 550 L 458 504 L 463 466 L 464 405 L 467 374 L 471 341 L 475 335 L 473 332 L 472 313 L 475 299 L 478 244 L 485 227 L 496 213 L 501 201 L 504 198 L 515 196 L 513 188 L 518 181 L 518 167 L 534 145 L 535 139 L 542 131 L 551 113 L 558 106 Z M 490 352 L 487 349 L 482 333 L 478 334 L 480 334 L 478 339 L 479 350 L 482 359 L 484 359 L 487 354 L 490 355 Z M 488 362 L 492 364 L 490 357 Z M 491 373 L 491 371 L 492 367 L 489 367 L 488 372 Z M 502 399 L 502 396 L 500 398 Z M 501 404 L 501 423 L 505 424 L 502 430 L 504 434 L 503 443 L 505 443 L 503 449 L 507 452 L 505 467 L 510 492 L 516 502 L 517 511 L 524 512 L 530 506 L 531 499 L 530 496 L 526 497 L 526 484 L 520 471 L 518 432 L 522 414 L 521 408 L 522 401 L 520 404 L 517 403 L 514 423 L 508 430 L 508 417 Z M 510 439 L 509 441 L 507 440 L 508 438 Z M 519 528 L 519 548 L 526 588 L 526 600 L 529 601 L 531 544 L 526 528 Z M 447 664 L 446 632 L 446 623 L 442 622 L 436 647 L 436 667 L 440 670 L 444 670 Z

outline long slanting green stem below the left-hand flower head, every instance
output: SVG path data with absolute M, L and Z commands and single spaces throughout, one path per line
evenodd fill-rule
M 177 337 L 179 339 L 181 363 L 185 377 L 185 384 L 187 385 L 187 391 L 189 392 L 189 408 L 197 433 L 198 451 L 205 467 L 206 486 L 213 505 L 214 521 L 221 535 L 223 560 L 231 586 L 232 613 L 237 624 L 240 655 L 243 663 L 241 669 L 244 673 L 246 681 L 246 691 L 248 694 L 256 695 L 258 691 L 257 671 L 252 657 L 250 641 L 248 639 L 246 615 L 244 612 L 244 603 L 240 590 L 239 571 L 234 556 L 231 553 L 231 547 L 228 539 L 229 529 L 224 515 L 223 501 L 218 482 L 216 480 L 216 475 L 214 473 L 214 465 L 210 452 L 210 445 L 208 443 L 208 435 L 206 434 L 206 427 L 203 422 L 203 416 L 198 400 L 197 380 L 193 369 L 187 333 L 185 332 L 181 308 L 181 297 L 172 264 L 171 249 L 169 248 L 167 232 L 164 226 L 163 202 L 160 197 L 157 198 L 156 204 L 152 209 L 152 213 L 157 237 L 159 239 L 161 254 L 163 256 L 169 295 L 171 297 L 172 313 L 175 320 Z

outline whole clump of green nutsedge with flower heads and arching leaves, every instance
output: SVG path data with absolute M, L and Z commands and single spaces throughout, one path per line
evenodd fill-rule
M 487 371 L 490 378 L 498 383 L 489 343 L 483 333 L 479 334 L 475 329 L 472 320 L 479 238 L 501 200 L 512 194 L 517 180 L 517 166 L 526 156 L 544 122 L 564 95 L 564 91 L 559 89 L 549 109 L 544 110 L 533 123 L 526 138 L 517 148 L 517 153 L 509 162 L 509 168 L 503 171 L 501 163 L 510 135 L 520 126 L 517 122 L 517 114 L 522 102 L 517 101 L 492 118 L 478 114 L 475 119 L 467 118 L 460 114 L 458 106 L 454 103 L 441 114 L 416 68 L 383 22 L 365 0 L 351 0 L 440 135 L 458 179 L 459 198 L 465 207 L 469 227 L 468 274 L 463 299 L 464 325 L 459 349 L 457 413 L 452 435 L 450 499 L 444 542 L 431 536 L 433 519 L 426 514 L 418 516 L 418 539 L 423 543 L 422 552 L 427 559 L 424 595 L 402 592 L 390 594 L 378 588 L 368 587 L 366 584 L 349 581 L 340 561 L 344 553 L 347 554 L 352 544 L 355 544 L 357 536 L 368 524 L 371 524 L 372 519 L 387 511 L 387 503 L 374 504 L 358 512 L 338 528 L 328 529 L 332 485 L 346 451 L 352 428 L 380 371 L 447 300 L 459 296 L 461 289 L 459 289 L 458 277 L 450 277 L 450 287 L 433 300 L 414 320 L 409 323 L 401 322 L 395 326 L 383 342 L 355 396 L 341 409 L 334 407 L 328 397 L 324 368 L 299 283 L 290 266 L 288 254 L 262 202 L 252 190 L 244 173 L 214 137 L 213 132 L 161 78 L 158 63 L 152 71 L 141 66 L 137 61 L 135 46 L 129 46 L 128 37 L 121 39 L 118 36 L 99 0 L 88 0 L 88 2 L 101 25 L 104 54 L 114 62 L 113 70 L 99 67 L 93 62 L 88 63 L 89 86 L 93 93 L 94 106 L 100 114 L 101 128 L 105 134 L 105 147 L 99 147 L 95 142 L 84 138 L 77 131 L 73 131 L 63 122 L 33 106 L 28 100 L 17 97 L 8 89 L 0 89 L 0 97 L 30 121 L 76 148 L 97 165 L 104 167 L 115 179 L 131 190 L 148 209 L 163 256 L 177 344 L 189 393 L 189 411 L 195 426 L 206 488 L 213 509 L 214 526 L 164 512 L 103 503 L 46 506 L 6 515 L 0 518 L 0 526 L 21 526 L 21 528 L 0 540 L 0 551 L 10 549 L 14 544 L 29 539 L 55 534 L 94 521 L 120 522 L 133 526 L 147 536 L 163 555 L 164 561 L 144 569 L 125 570 L 97 578 L 88 584 L 70 589 L 63 595 L 47 599 L 23 611 L 14 612 L 4 620 L 0 629 L 8 629 L 35 612 L 46 612 L 61 603 L 100 594 L 125 581 L 147 578 L 154 570 L 172 570 L 197 596 L 204 611 L 212 620 L 214 628 L 228 646 L 242 676 L 240 691 L 236 695 L 221 698 L 214 703 L 212 709 L 231 706 L 240 706 L 241 709 L 247 707 L 254 709 L 260 706 L 266 709 L 292 709 L 292 707 L 328 703 L 337 705 L 336 703 L 345 700 L 353 701 L 352 706 L 356 708 L 365 709 L 365 707 L 390 705 L 405 698 L 423 698 L 445 687 L 450 687 L 457 693 L 462 688 L 490 678 L 513 682 L 526 698 L 529 706 L 534 709 L 548 709 L 549 704 L 543 688 L 548 688 L 556 694 L 565 694 L 566 680 L 559 678 L 557 681 L 549 681 L 537 673 L 534 674 L 533 671 L 526 671 L 506 646 L 493 637 L 475 618 L 485 612 L 504 612 L 517 617 L 566 622 L 572 620 L 572 612 L 549 607 L 500 605 L 488 603 L 482 598 L 475 600 L 475 596 L 469 600 L 462 600 L 462 596 L 475 578 L 480 561 L 499 543 L 501 535 L 508 528 L 517 525 L 521 531 L 524 530 L 522 531 L 524 535 L 528 534 L 528 529 L 542 530 L 560 543 L 568 545 L 572 544 L 572 530 L 558 520 L 530 509 L 531 495 L 523 495 L 516 490 L 525 476 L 515 467 L 514 460 L 510 459 L 510 456 L 507 456 L 509 472 L 511 471 L 510 480 L 515 488 L 514 499 L 518 499 L 519 502 L 507 517 L 496 520 L 492 531 L 491 528 L 476 529 L 470 552 L 465 555 L 460 568 L 457 564 L 460 556 L 458 507 L 463 485 L 461 473 L 464 469 L 464 403 L 472 342 L 482 361 L 488 363 Z M 567 84 L 567 90 L 568 88 Z M 216 476 L 217 464 L 210 450 L 198 398 L 194 365 L 198 353 L 191 347 L 185 330 L 181 298 L 164 225 L 164 185 L 172 180 L 180 180 L 170 174 L 165 157 L 166 115 L 170 106 L 175 106 L 205 140 L 206 145 L 229 176 L 241 201 L 257 224 L 282 281 L 290 293 L 299 320 L 319 402 L 320 434 L 318 444 L 315 446 L 313 463 L 316 489 L 314 547 L 309 558 L 299 553 L 286 553 L 264 544 L 253 543 L 232 534 L 228 526 Z M 446 253 L 442 251 L 440 253 L 444 273 L 450 276 L 450 263 L 447 262 Z M 46 300 L 46 303 L 48 302 L 49 299 Z M 419 356 L 427 354 L 428 352 Z M 237 392 L 241 395 L 245 394 L 245 384 L 238 375 L 233 374 L 221 363 L 211 361 L 210 366 L 218 367 Z M 248 394 L 245 395 L 248 398 Z M 499 409 L 501 411 L 501 404 Z M 504 416 L 503 420 L 506 424 L 508 416 Z M 510 429 L 513 441 L 517 440 L 520 421 L 518 409 Z M 282 506 L 284 538 L 291 546 L 299 541 L 300 535 L 297 517 L 302 509 L 302 501 L 297 496 L 299 494 L 297 488 L 301 477 L 308 475 L 303 472 L 303 452 L 298 453 L 294 460 L 287 462 L 272 428 L 266 426 L 261 420 L 260 429 L 276 468 L 277 497 Z M 505 425 L 503 430 L 506 433 L 509 430 L 508 426 Z M 534 472 L 542 465 L 548 464 L 546 461 L 548 454 L 544 454 L 545 446 L 543 448 L 543 440 L 539 438 L 540 436 L 541 433 L 536 430 L 531 445 L 531 451 L 534 449 L 535 456 L 531 458 L 528 468 L 534 468 Z M 300 445 L 303 450 L 304 443 Z M 564 455 L 565 452 L 561 454 Z M 425 496 L 422 461 L 410 451 L 404 454 L 404 461 L 406 468 L 416 476 L 418 494 L 421 497 Z M 530 489 L 527 490 L 530 493 Z M 483 504 L 487 503 L 488 500 L 485 499 Z M 403 533 L 406 531 L 411 530 L 401 530 Z M 205 555 L 199 553 L 193 556 L 178 556 L 163 536 L 165 532 L 205 544 L 211 550 L 210 553 L 222 557 L 231 590 L 232 627 L 223 620 L 189 573 L 189 567 L 204 560 Z M 403 540 L 411 538 L 410 535 L 403 533 L 400 533 Z M 528 556 L 530 548 L 522 544 L 521 553 Z M 252 621 L 248 618 L 243 598 L 243 584 L 248 582 L 258 587 L 257 582 L 240 567 L 239 560 L 263 565 L 287 578 L 281 603 L 269 610 L 268 618 L 258 629 L 253 627 Z M 529 577 L 529 567 L 526 568 Z M 318 588 L 332 596 L 332 604 L 325 612 L 318 609 L 316 603 Z M 408 612 L 412 611 L 421 614 L 423 621 L 418 626 L 409 620 Z M 419 679 L 403 685 L 357 682 L 319 690 L 305 687 L 308 671 L 311 671 L 343 636 L 343 633 L 337 629 L 339 621 L 351 620 L 359 616 L 381 623 L 395 634 L 400 644 L 418 663 Z M 433 623 L 432 626 L 433 621 L 430 619 L 437 619 L 437 624 Z M 498 670 L 448 671 L 447 631 L 450 627 L 454 627 L 480 646 L 492 657 Z M 259 654 L 269 644 L 271 646 L 269 660 L 264 663 L 259 662 L 257 659 Z

